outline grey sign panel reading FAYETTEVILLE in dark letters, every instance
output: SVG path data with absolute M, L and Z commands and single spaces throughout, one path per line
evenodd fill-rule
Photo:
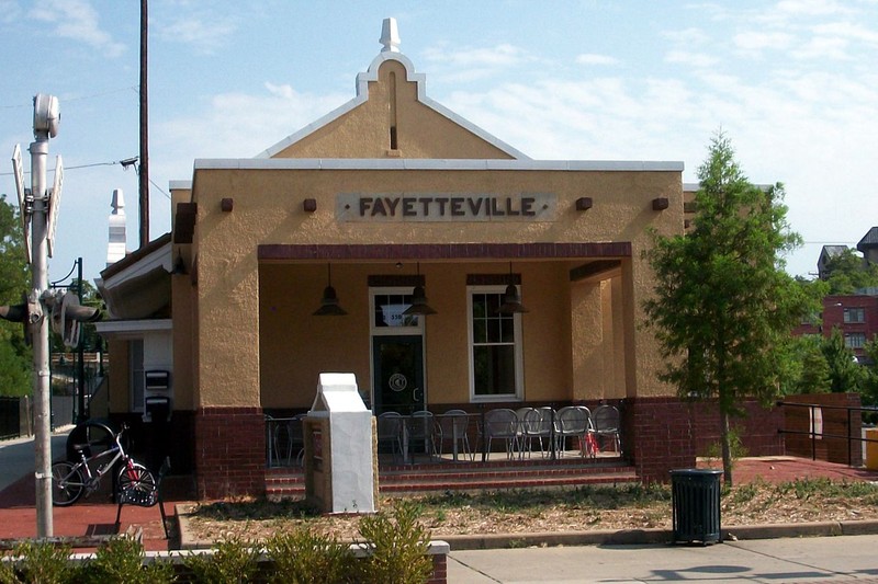
M 341 193 L 336 197 L 336 215 L 347 221 L 549 221 L 555 201 L 555 195 L 545 193 Z

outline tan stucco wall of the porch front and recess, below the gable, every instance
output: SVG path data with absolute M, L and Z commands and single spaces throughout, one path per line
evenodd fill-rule
M 558 213 L 553 220 L 541 222 L 339 222 L 336 195 L 352 192 L 551 193 Z M 594 207 L 575 210 L 581 196 L 594 197 Z M 657 196 L 668 197 L 671 208 L 653 210 L 651 202 Z M 230 213 L 219 210 L 225 197 L 234 199 Z M 302 202 L 311 197 L 317 201 L 313 214 L 302 208 Z M 587 259 L 516 262 L 516 273 L 522 274 L 525 304 L 531 310 L 524 317 L 525 399 L 593 399 L 623 391 L 669 393 L 655 380 L 660 358 L 654 340 L 635 323 L 642 318 L 637 299 L 652 285 L 652 274 L 641 257 L 649 244 L 645 230 L 676 232 L 682 228 L 678 172 L 200 169 L 193 198 L 199 206 L 194 329 L 199 331 L 201 394 L 195 401 L 200 405 L 306 406 L 320 370 L 351 371 L 362 387 L 371 383 L 367 276 L 392 273 L 393 262 L 334 262 L 333 284 L 349 316 L 324 324 L 327 319 L 315 321 L 309 313 L 326 285 L 326 262 L 263 262 L 260 267 L 260 244 L 631 242 L 632 255 L 623 259 L 622 276 L 612 284 L 620 288 L 619 296 L 614 300 L 611 291 L 601 294 L 598 286 L 594 298 L 586 295 L 588 306 L 582 322 L 566 313 L 583 301 L 571 296 L 581 284 L 570 284 L 567 274 Z M 301 265 L 290 267 L 292 263 Z M 485 267 L 461 261 L 447 264 L 421 261 L 430 302 L 440 314 L 458 317 L 428 320 L 430 402 L 469 400 L 468 347 L 461 341 L 466 332 L 465 274 L 508 271 L 507 260 Z M 291 304 L 295 306 L 285 306 Z M 616 314 L 609 321 L 609 333 L 607 310 Z M 282 318 L 275 319 L 272 311 L 280 311 Z M 592 350 L 579 352 L 574 343 L 588 335 L 597 335 L 588 342 Z M 278 337 L 283 341 L 278 343 Z M 288 357 L 284 343 L 295 346 L 291 348 L 294 357 Z M 611 362 L 620 364 L 618 370 L 606 370 L 605 343 L 612 344 Z M 601 375 L 595 378 L 597 370 Z M 624 388 L 619 387 L 622 375 Z M 303 393 L 291 400 L 290 391 Z

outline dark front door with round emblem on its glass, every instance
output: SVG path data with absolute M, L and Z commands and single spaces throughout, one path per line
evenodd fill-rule
M 373 336 L 372 358 L 375 414 L 426 409 L 423 336 Z

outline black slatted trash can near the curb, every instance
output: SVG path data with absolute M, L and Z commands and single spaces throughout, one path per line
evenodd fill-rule
M 720 476 L 722 471 L 713 469 L 671 471 L 675 543 L 722 541 Z

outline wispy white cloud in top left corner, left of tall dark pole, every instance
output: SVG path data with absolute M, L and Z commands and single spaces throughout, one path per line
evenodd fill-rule
M 54 34 L 86 43 L 110 57 L 125 50 L 125 45 L 101 30 L 98 12 L 87 0 L 43 0 L 31 9 L 29 16 L 55 25 Z

